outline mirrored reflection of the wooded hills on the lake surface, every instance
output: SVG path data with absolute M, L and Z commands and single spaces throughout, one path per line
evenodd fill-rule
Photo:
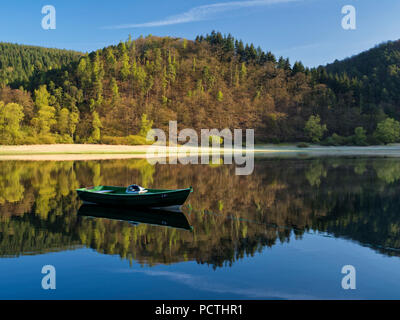
M 0 255 L 88 246 L 154 265 L 232 264 L 266 246 L 326 231 L 400 249 L 400 165 L 392 159 L 260 160 L 251 176 L 233 166 L 156 166 L 146 160 L 0 162 Z M 184 230 L 76 216 L 83 185 L 193 186 Z

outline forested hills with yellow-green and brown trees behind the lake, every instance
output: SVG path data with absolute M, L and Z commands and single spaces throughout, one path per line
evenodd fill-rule
M 400 41 L 306 68 L 231 35 L 149 35 L 83 54 L 0 44 L 0 142 L 143 144 L 150 127 L 256 142 L 400 142 Z

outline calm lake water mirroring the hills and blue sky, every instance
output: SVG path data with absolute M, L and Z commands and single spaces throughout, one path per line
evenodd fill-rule
M 151 219 L 81 207 L 75 192 L 132 183 L 194 192 L 182 213 Z M 395 158 L 257 157 L 250 176 L 0 161 L 0 299 L 398 299 L 399 195 Z M 56 290 L 42 289 L 44 265 Z M 345 265 L 355 290 L 342 288 Z

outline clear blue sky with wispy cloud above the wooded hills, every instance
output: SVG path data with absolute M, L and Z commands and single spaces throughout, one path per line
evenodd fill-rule
M 56 8 L 56 30 L 41 27 L 44 5 Z M 341 26 L 344 5 L 356 8 L 356 30 Z M 0 41 L 87 52 L 129 34 L 194 39 L 217 30 L 318 66 L 400 38 L 398 0 L 14 0 L 0 8 Z

